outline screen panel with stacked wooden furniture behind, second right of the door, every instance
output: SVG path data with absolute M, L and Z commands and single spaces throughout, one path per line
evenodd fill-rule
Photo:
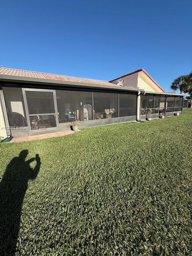
M 93 92 L 94 119 L 118 117 L 118 94 Z

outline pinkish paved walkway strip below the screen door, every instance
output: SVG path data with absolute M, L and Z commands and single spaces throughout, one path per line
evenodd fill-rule
M 41 139 L 45 139 L 45 138 L 65 136 L 65 135 L 73 134 L 73 133 L 74 133 L 74 131 L 72 131 L 72 130 L 62 131 L 62 132 L 49 132 L 49 133 L 42 133 L 42 134 L 36 134 L 36 135 L 30 135 L 30 136 L 24 136 L 24 137 L 15 137 L 10 142 L 41 140 Z

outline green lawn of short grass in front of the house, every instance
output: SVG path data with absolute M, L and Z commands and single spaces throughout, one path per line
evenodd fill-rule
M 0 255 L 192 255 L 192 109 L 0 156 Z

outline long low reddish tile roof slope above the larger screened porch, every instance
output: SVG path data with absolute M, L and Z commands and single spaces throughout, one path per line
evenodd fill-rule
M 112 83 L 104 81 L 104 80 L 80 78 L 80 77 L 74 77 L 74 76 L 63 76 L 63 75 L 21 70 L 21 69 L 15 69 L 15 68 L 0 68 L 0 76 L 1 75 L 21 76 L 21 77 L 30 77 L 30 78 L 42 78 L 42 79 L 49 79 L 49 80 L 80 82 L 80 83 L 87 83 L 87 84 L 99 84 L 99 85 L 104 85 L 104 86 L 105 85 L 106 86 L 109 86 L 109 85 L 117 86 L 116 84 L 112 84 Z

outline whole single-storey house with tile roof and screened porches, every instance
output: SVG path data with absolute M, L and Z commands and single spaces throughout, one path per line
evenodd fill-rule
M 121 82 L 122 79 L 125 81 Z M 27 136 L 170 116 L 183 96 L 166 93 L 144 70 L 111 81 L 0 68 L 0 136 Z

